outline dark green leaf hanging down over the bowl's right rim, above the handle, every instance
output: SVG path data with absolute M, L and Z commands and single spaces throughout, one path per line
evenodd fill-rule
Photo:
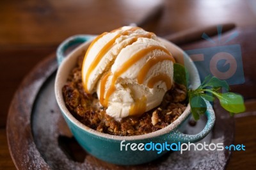
M 199 95 L 192 95 L 189 97 L 189 103 L 194 119 L 199 120 L 200 114 L 204 114 L 207 109 L 204 99 Z

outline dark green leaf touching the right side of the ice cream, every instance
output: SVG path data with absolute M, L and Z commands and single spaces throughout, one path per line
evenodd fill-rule
M 188 76 L 188 72 L 183 65 L 180 65 L 179 63 L 173 64 L 173 80 L 177 84 L 183 84 L 188 88 Z

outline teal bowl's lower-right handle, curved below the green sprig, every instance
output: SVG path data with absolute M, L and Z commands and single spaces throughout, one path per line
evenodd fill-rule
M 215 122 L 215 114 L 212 109 L 212 105 L 209 102 L 207 102 L 207 111 L 205 112 L 205 115 L 207 117 L 207 123 L 201 132 L 195 135 L 188 135 L 182 134 L 181 132 L 179 132 L 179 130 L 175 129 L 173 133 L 170 134 L 170 139 L 172 139 L 176 143 L 196 143 L 197 141 L 203 139 L 207 134 L 209 134 Z

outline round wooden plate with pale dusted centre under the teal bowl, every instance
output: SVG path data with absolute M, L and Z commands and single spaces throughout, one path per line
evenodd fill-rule
M 55 54 L 44 59 L 26 76 L 13 97 L 8 113 L 8 146 L 17 169 L 224 169 L 230 151 L 179 151 L 138 166 L 116 166 L 84 151 L 72 137 L 54 97 L 57 70 Z M 234 120 L 214 105 L 216 123 L 199 143 L 232 144 Z M 225 112 L 225 114 L 223 113 Z M 186 133 L 200 132 L 205 118 Z M 167 141 L 168 142 L 168 141 Z M 106 153 L 107 154 L 107 153 Z M 136 157 L 136 155 L 134 155 Z

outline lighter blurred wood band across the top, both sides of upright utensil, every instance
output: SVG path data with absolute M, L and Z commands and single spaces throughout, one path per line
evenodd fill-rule
M 100 1 L 51 0 L 1 1 L 0 45 L 58 44 L 76 34 L 99 34 L 131 22 L 139 22 L 160 0 Z M 234 22 L 255 23 L 250 6 L 241 0 L 163 1 L 163 16 L 155 22 L 158 35 L 191 27 Z M 228 9 L 228 10 L 227 10 Z

